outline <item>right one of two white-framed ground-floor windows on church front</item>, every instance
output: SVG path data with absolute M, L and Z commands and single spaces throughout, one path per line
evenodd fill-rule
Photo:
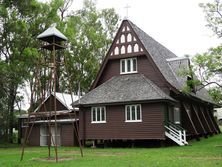
M 126 105 L 125 106 L 125 121 L 126 122 L 142 122 L 141 105 Z

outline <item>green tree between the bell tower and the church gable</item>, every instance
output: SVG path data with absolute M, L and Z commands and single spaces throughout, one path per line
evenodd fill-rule
M 97 10 L 91 0 L 85 0 L 82 9 L 69 14 L 64 33 L 69 39 L 66 62 L 74 92 L 78 92 L 79 86 L 81 92 L 89 90 L 118 28 L 118 21 L 114 9 Z M 63 86 L 67 83 L 64 72 Z

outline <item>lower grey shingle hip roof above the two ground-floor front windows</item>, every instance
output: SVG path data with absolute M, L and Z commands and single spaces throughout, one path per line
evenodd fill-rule
M 148 100 L 170 100 L 152 81 L 142 74 L 114 76 L 102 85 L 96 87 L 74 105 L 108 104 L 121 102 L 136 102 Z

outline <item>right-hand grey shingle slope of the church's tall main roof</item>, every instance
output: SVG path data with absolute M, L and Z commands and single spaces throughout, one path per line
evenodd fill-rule
M 157 67 L 159 68 L 160 72 L 163 74 L 164 78 L 170 83 L 173 87 L 177 90 L 182 90 L 185 82 L 186 77 L 181 77 L 178 75 L 179 66 L 178 63 L 182 63 L 183 65 L 187 65 L 188 63 L 185 60 L 182 61 L 175 61 L 174 63 L 168 63 L 167 59 L 177 58 L 177 56 L 168 50 L 166 47 L 158 43 L 152 37 L 147 35 L 143 30 L 137 27 L 132 22 L 128 21 L 137 34 L 138 38 L 142 42 L 143 46 L 145 47 L 146 51 L 149 53 Z M 190 93 L 190 95 L 200 98 L 204 101 L 213 103 L 212 98 L 209 96 L 207 90 L 205 88 L 199 90 L 194 93 Z

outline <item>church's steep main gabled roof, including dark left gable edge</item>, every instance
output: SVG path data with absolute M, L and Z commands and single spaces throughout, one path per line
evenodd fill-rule
M 174 90 L 177 90 L 178 92 L 180 92 L 184 85 L 186 84 L 186 77 L 181 77 L 178 75 L 178 72 L 180 69 L 178 66 L 178 62 L 174 62 L 174 63 L 169 63 L 167 60 L 168 59 L 178 59 L 178 57 L 171 52 L 169 49 L 167 49 L 166 47 L 164 47 L 163 45 L 161 45 L 159 42 L 157 42 L 156 40 L 154 40 L 152 37 L 150 37 L 149 35 L 147 35 L 143 30 L 141 30 L 139 27 L 137 27 L 135 24 L 133 24 L 131 21 L 129 20 L 124 20 L 119 28 L 119 31 L 122 30 L 122 27 L 124 26 L 124 24 L 129 25 L 130 29 L 135 33 L 138 43 L 141 43 L 143 46 L 143 48 L 145 49 L 145 52 L 147 52 L 148 54 L 147 57 L 150 59 L 152 59 L 154 65 L 157 67 L 157 69 L 159 70 L 159 72 L 162 74 L 163 78 L 167 81 L 167 83 L 169 83 L 169 86 L 171 88 L 174 88 Z M 118 32 L 119 33 L 119 32 Z M 117 33 L 117 34 L 118 34 Z M 114 42 L 117 41 L 117 36 L 114 39 Z M 114 42 L 112 44 L 112 46 L 114 45 Z M 99 73 L 97 74 L 97 77 L 91 87 L 91 89 L 96 87 L 96 84 L 100 78 L 100 76 L 102 75 L 102 72 L 107 64 L 107 62 L 109 61 L 110 58 L 110 54 L 112 52 L 111 49 L 113 49 L 113 47 L 110 47 L 103 63 L 102 66 L 100 68 Z M 189 68 L 189 60 L 188 59 L 184 59 L 181 60 L 179 63 L 184 64 L 185 66 L 187 66 L 187 68 Z M 201 89 L 198 92 L 196 92 L 196 94 L 194 93 L 190 93 L 191 96 L 197 97 L 199 99 L 202 99 L 204 101 L 207 102 L 213 102 L 212 98 L 208 95 L 207 90 L 206 89 Z

